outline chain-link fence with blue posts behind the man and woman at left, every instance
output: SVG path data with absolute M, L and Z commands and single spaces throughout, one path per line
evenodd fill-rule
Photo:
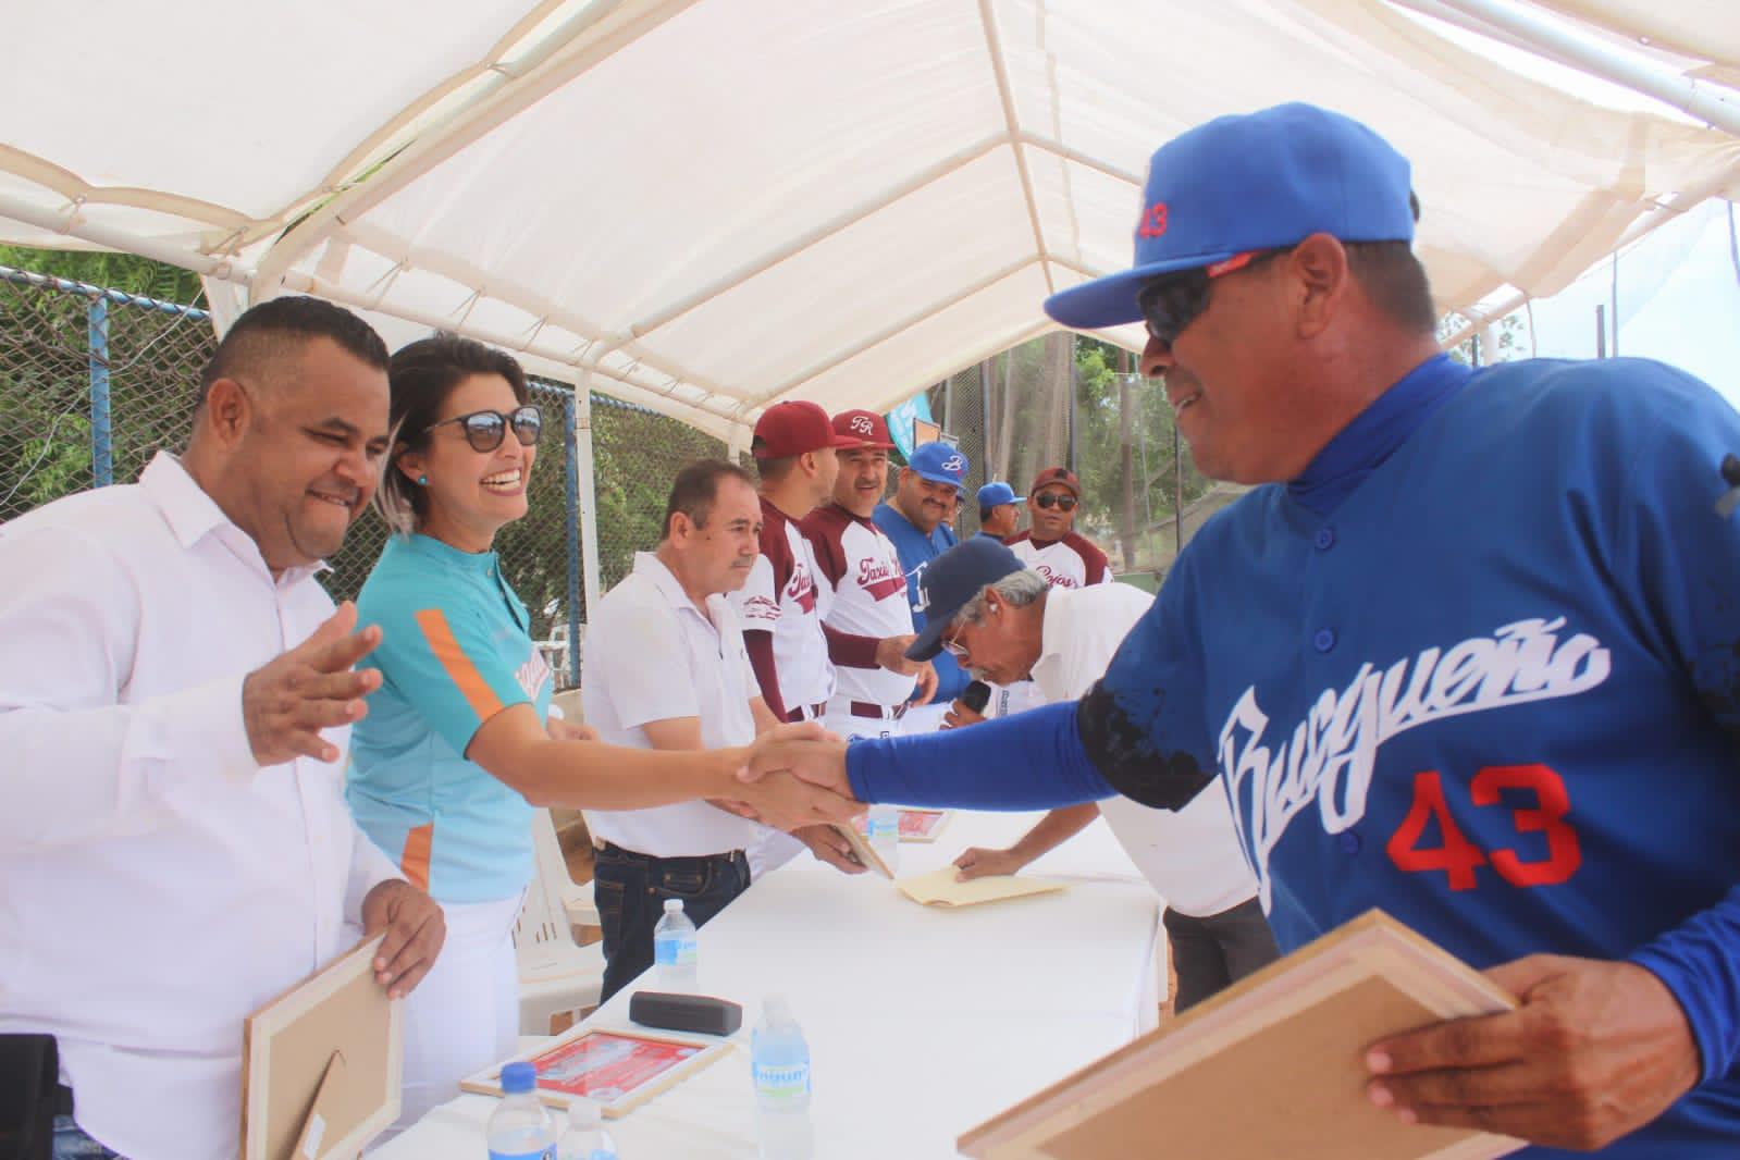
M 211 317 L 195 306 L 0 266 L 0 522 L 89 487 L 130 483 L 158 449 L 183 447 L 216 344 Z M 552 643 L 559 687 L 569 687 L 578 677 L 566 649 L 571 609 L 585 623 L 574 393 L 534 381 L 532 397 L 545 410 L 545 466 L 532 471 L 525 518 L 501 530 L 496 550 L 532 635 Z M 658 543 L 677 470 L 726 449 L 644 407 L 602 395 L 592 405 L 609 588 L 637 550 Z M 357 595 L 385 539 L 372 511 L 357 522 L 322 577 L 336 600 Z

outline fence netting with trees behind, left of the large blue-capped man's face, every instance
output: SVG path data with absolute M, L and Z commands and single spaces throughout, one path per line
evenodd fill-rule
M 1025 496 L 1039 471 L 1065 464 L 1082 482 L 1075 530 L 1119 574 L 1157 583 L 1180 539 L 1242 489 L 1194 468 L 1166 395 L 1131 362 L 1105 343 L 1047 334 L 931 388 L 931 414 L 973 464 L 957 532 L 978 530 L 980 485 L 1004 480 Z

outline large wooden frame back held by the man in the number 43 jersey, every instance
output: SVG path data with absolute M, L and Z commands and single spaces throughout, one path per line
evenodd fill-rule
M 1512 1007 L 1472 967 L 1368 911 L 981 1123 L 959 1146 L 974 1160 L 1503 1157 L 1522 1141 L 1408 1125 L 1373 1106 L 1364 1049 Z

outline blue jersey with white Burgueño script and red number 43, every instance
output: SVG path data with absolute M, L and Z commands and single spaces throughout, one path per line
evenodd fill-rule
M 1079 715 L 1138 800 L 1220 774 L 1284 948 L 1378 906 L 1655 970 L 1703 1082 L 1604 1157 L 1740 1150 L 1728 452 L 1660 363 L 1434 358 L 1202 529 Z

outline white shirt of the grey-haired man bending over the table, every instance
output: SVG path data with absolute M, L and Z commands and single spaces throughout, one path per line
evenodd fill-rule
M 1032 673 L 1044 703 L 1075 701 L 1093 689 L 1152 603 L 1148 593 L 1129 584 L 1053 586 Z M 1218 783 L 1176 812 L 1129 798 L 1107 798 L 1100 812 L 1131 861 L 1178 913 L 1208 918 L 1256 897 L 1256 878 Z

